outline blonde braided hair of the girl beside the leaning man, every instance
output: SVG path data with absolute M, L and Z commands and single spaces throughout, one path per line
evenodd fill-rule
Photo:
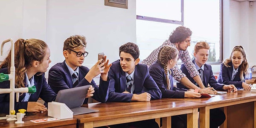
M 171 85 L 170 85 L 170 80 L 167 73 L 168 72 L 170 73 L 170 70 L 167 69 L 167 65 L 171 59 L 174 59 L 177 56 L 177 54 L 178 54 L 178 50 L 176 48 L 171 46 L 164 46 L 160 48 L 157 55 L 157 62 L 163 66 L 164 73 L 166 75 L 167 89 L 169 90 Z

